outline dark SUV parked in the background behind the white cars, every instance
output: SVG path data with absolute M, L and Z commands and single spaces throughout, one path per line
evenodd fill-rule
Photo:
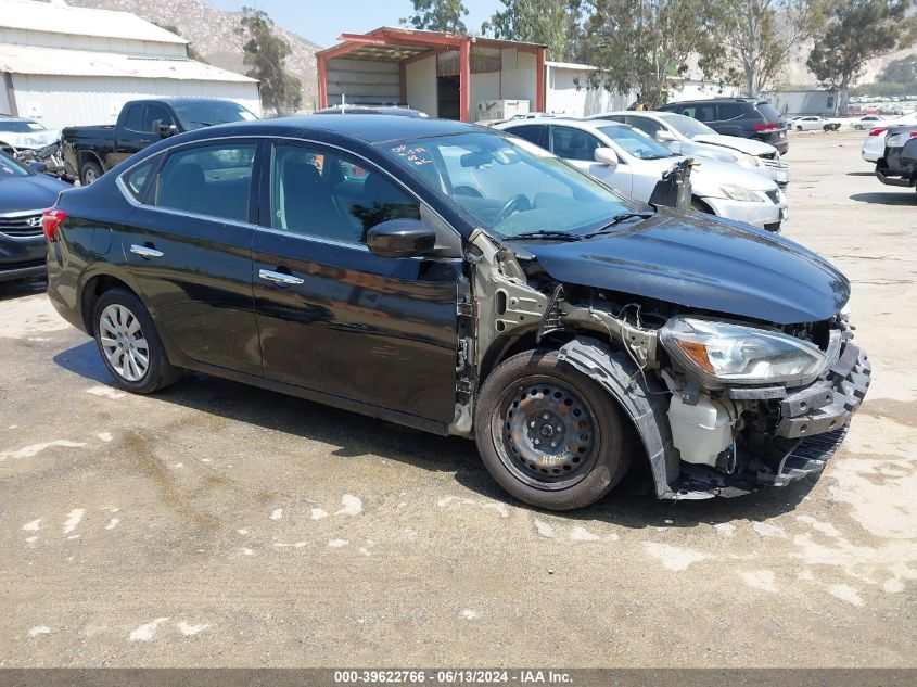
M 784 115 L 777 112 L 769 100 L 714 98 L 668 103 L 660 110 L 703 122 L 717 133 L 770 143 L 781 155 L 786 155 L 790 149 Z

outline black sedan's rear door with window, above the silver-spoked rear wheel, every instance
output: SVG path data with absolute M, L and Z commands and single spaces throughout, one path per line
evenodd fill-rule
M 257 147 L 232 139 L 170 153 L 123 245 L 156 323 L 183 355 L 260 376 L 250 222 Z

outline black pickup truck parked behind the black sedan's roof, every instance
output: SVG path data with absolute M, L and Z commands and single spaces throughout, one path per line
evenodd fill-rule
M 117 123 L 67 127 L 61 133 L 64 160 L 84 186 L 160 139 L 215 124 L 255 119 L 242 105 L 211 98 L 132 100 Z

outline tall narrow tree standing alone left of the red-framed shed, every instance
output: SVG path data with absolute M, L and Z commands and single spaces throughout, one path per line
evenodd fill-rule
M 303 88 L 300 79 L 283 67 L 290 56 L 290 44 L 273 30 L 273 22 L 263 10 L 242 8 L 237 29 L 246 40 L 243 63 L 252 68 L 247 76 L 260 81 L 262 103 L 278 116 L 300 107 Z

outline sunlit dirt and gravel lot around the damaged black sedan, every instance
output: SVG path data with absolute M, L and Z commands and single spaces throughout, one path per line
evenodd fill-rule
M 817 481 L 508 500 L 472 444 L 203 377 L 111 386 L 0 284 L 0 666 L 917 666 L 917 198 L 793 135 L 786 236 L 854 282 L 875 381 Z

